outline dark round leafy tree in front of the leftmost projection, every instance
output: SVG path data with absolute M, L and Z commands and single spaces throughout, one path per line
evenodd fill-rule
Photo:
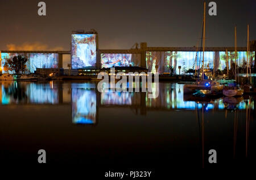
M 23 71 L 26 69 L 26 62 L 27 58 L 23 56 L 14 56 L 13 58 L 9 58 L 6 60 L 4 68 L 6 70 L 10 70 L 11 72 L 15 72 L 15 74 L 18 74 L 20 71 L 23 73 Z

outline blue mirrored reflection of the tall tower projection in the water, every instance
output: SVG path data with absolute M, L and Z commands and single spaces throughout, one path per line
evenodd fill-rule
M 96 123 L 96 91 L 72 89 L 72 122 L 75 124 Z

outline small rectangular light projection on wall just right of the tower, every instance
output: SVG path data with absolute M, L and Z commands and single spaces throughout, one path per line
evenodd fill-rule
M 101 68 L 112 68 L 113 66 L 129 66 L 131 54 L 101 54 Z

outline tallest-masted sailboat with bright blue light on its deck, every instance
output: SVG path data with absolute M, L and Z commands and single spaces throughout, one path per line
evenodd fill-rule
M 217 81 L 212 81 L 211 79 L 205 79 L 204 73 L 204 47 L 205 47 L 205 2 L 204 2 L 204 20 L 203 20 L 203 65 L 201 67 L 202 77 L 201 79 L 197 80 L 193 84 L 185 84 L 183 86 L 184 94 L 187 93 L 195 93 L 195 91 L 200 90 L 203 94 L 221 94 L 223 85 L 221 85 Z M 199 67 L 199 74 L 200 74 L 200 67 Z

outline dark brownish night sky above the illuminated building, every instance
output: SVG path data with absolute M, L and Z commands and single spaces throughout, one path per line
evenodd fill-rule
M 98 31 L 100 49 L 130 49 L 136 42 L 192 47 L 201 33 L 202 0 L 44 0 L 46 16 L 38 15 L 38 2 L 0 1 L 0 49 L 28 44 L 39 46 L 38 50 L 69 50 L 71 31 L 85 28 Z M 246 46 L 247 23 L 250 40 L 256 39 L 256 0 L 214 2 L 217 16 L 207 13 L 206 46 L 233 46 L 236 24 L 238 46 Z

